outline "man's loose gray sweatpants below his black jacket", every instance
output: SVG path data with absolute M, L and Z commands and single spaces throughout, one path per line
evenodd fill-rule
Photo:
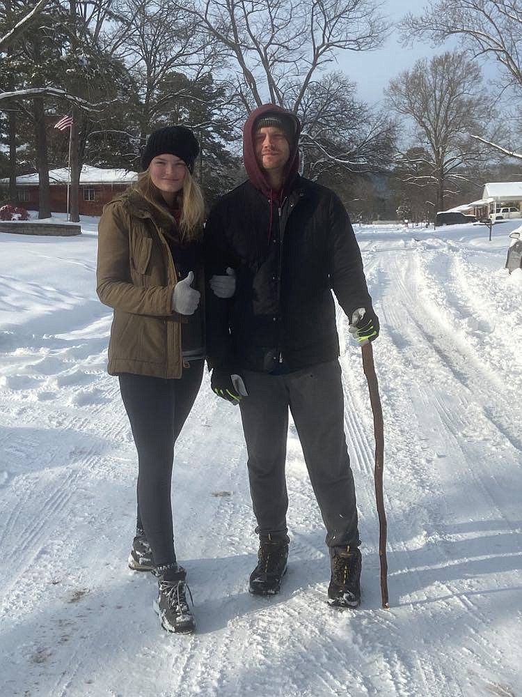
M 326 544 L 360 544 L 339 362 L 285 375 L 251 371 L 243 375 L 248 397 L 240 408 L 256 532 L 287 535 L 285 459 L 290 407 L 326 526 Z

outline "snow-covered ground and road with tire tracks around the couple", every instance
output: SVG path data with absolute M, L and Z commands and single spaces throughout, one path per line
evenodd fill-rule
M 198 629 L 166 634 L 127 568 L 136 457 L 105 373 L 111 312 L 84 234 L 0 233 L 0 695 L 514 697 L 520 671 L 522 271 L 508 233 L 356 228 L 382 333 L 389 611 L 380 608 L 372 415 L 340 313 L 363 605 L 332 611 L 294 427 L 290 565 L 247 592 L 257 540 L 239 412 L 203 387 L 177 445 L 175 538 Z

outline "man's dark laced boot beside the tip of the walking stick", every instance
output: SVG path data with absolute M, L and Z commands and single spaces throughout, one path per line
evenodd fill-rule
M 361 551 L 355 547 L 331 549 L 328 603 L 333 608 L 357 608 L 361 604 Z

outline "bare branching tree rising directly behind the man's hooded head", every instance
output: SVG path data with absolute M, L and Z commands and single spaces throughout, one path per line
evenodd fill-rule
M 331 160 L 332 148 L 316 134 L 324 135 L 324 121 L 311 126 L 312 114 L 320 116 L 329 91 L 335 92 L 337 74 L 325 70 L 340 51 L 367 51 L 381 45 L 387 24 L 379 0 L 196 0 L 183 4 L 221 47 L 234 74 L 244 112 L 273 102 L 303 118 L 303 148 L 323 149 L 314 154 L 317 170 Z M 351 91 L 354 86 L 349 85 Z M 313 105 L 314 100 L 317 102 Z M 337 100 L 338 106 L 339 100 Z M 331 144 L 332 145 L 332 144 Z M 351 146 L 340 146 L 340 159 L 355 162 Z M 319 162 L 321 160 L 321 162 Z

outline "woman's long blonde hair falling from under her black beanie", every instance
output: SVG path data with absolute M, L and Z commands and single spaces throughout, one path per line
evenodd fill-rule
M 174 221 L 174 216 L 166 207 L 161 192 L 150 176 L 150 171 L 145 169 L 138 175 L 138 182 L 132 187 L 151 206 L 152 210 Z M 176 194 L 176 203 L 180 207 L 180 234 L 182 240 L 195 240 L 201 236 L 203 222 L 205 222 L 205 201 L 200 187 L 193 178 L 188 167 L 183 180 L 182 189 Z

